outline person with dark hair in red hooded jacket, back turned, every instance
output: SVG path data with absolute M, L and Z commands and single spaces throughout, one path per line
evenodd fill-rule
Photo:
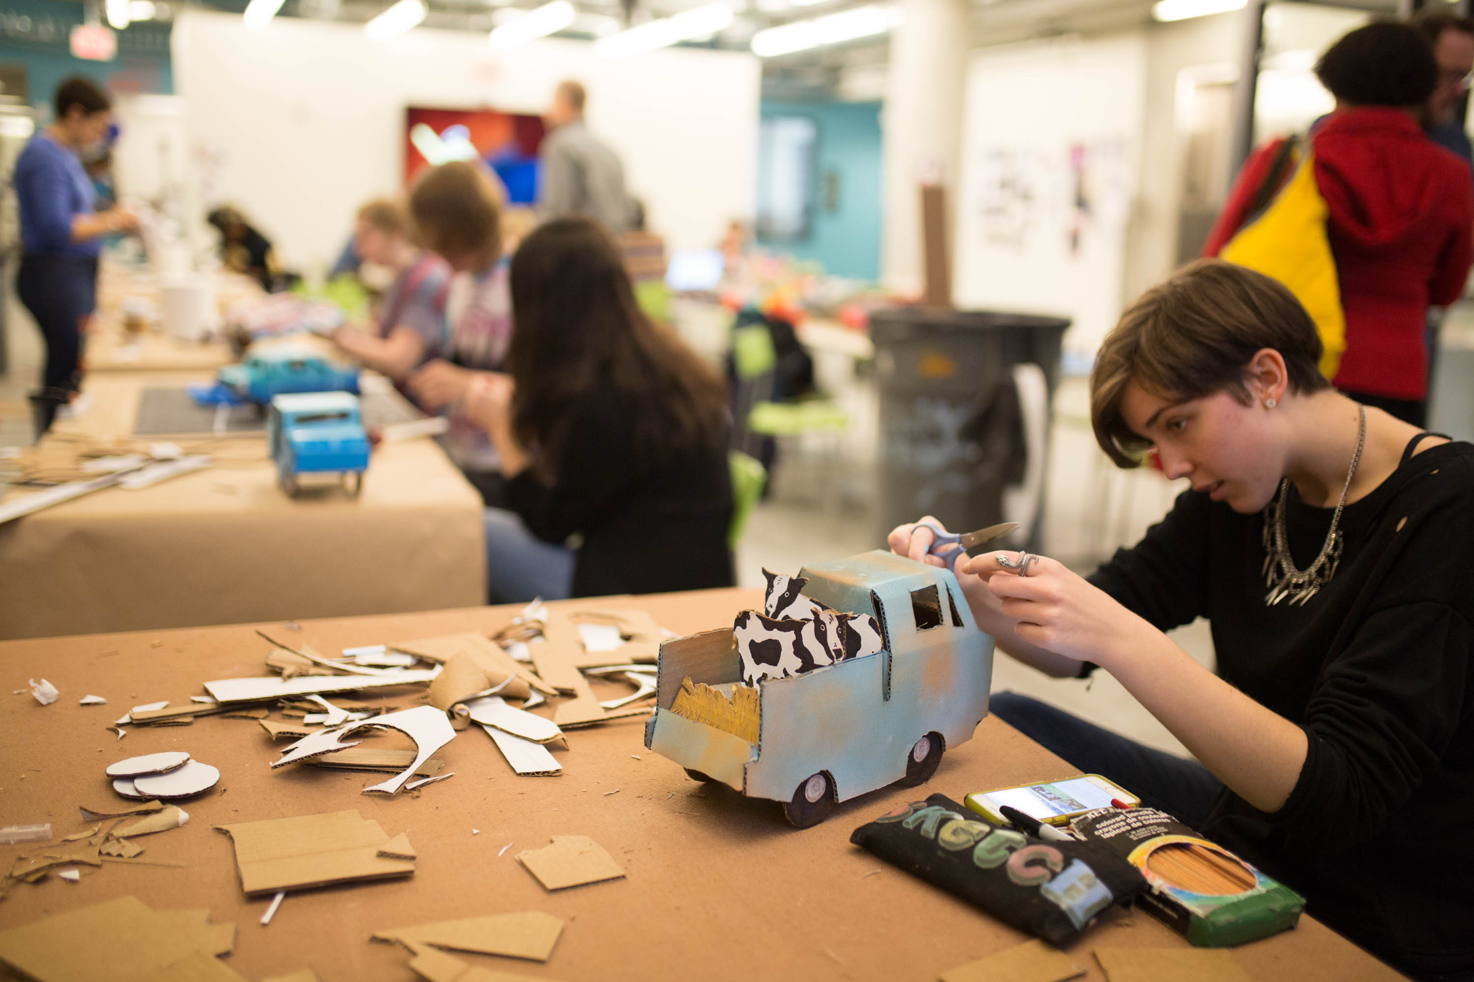
M 1474 258 L 1470 165 L 1419 125 L 1439 68 L 1417 29 L 1368 24 L 1332 44 L 1315 72 L 1335 96 L 1335 112 L 1310 137 L 1346 311 L 1346 353 L 1332 381 L 1422 427 L 1428 308 L 1458 299 Z M 1216 256 L 1253 218 L 1282 146 L 1275 140 L 1244 165 L 1203 255 Z

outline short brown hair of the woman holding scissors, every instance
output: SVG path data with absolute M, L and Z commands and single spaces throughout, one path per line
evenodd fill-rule
M 1128 383 L 1170 402 L 1229 392 L 1248 405 L 1244 375 L 1254 353 L 1285 359 L 1290 392 L 1319 392 L 1321 334 L 1276 280 L 1222 259 L 1198 259 L 1126 308 L 1091 370 L 1095 442 L 1117 467 L 1136 467 L 1148 443 L 1120 414 Z

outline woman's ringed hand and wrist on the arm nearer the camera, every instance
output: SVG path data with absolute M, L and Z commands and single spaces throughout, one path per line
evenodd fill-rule
M 1108 593 L 1048 557 L 1035 557 L 1027 576 L 998 562 L 999 557 L 1019 562 L 1021 555 L 985 552 L 957 564 L 958 573 L 986 580 L 1020 639 L 1108 670 L 1111 658 L 1131 651 L 1132 637 L 1142 629 L 1156 632 Z

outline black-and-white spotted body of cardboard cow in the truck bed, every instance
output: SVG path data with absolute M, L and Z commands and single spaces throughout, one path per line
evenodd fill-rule
M 808 599 L 808 598 L 805 598 Z M 812 601 L 809 601 L 812 604 Z M 733 624 L 744 685 L 787 679 L 880 651 L 880 626 L 868 614 L 831 611 L 815 604 L 806 618 L 743 611 Z

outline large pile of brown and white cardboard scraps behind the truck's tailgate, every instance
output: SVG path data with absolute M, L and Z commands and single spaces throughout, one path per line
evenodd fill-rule
M 656 688 L 660 629 L 644 611 L 550 612 L 532 604 L 491 636 L 447 635 L 348 648 L 339 657 L 292 646 L 256 632 L 271 648 L 274 674 L 203 683 L 187 704 L 137 705 L 112 727 L 187 726 L 203 716 L 254 720 L 271 741 L 292 739 L 273 769 L 286 766 L 382 771 L 388 780 L 364 794 L 395 795 L 454 776 L 433 754 L 455 732 L 479 726 L 517 774 L 559 774 L 550 745 L 567 743 L 565 729 L 649 714 Z M 628 682 L 634 689 L 600 701 L 588 677 Z M 394 702 L 419 689 L 414 702 Z M 376 696 L 389 696 L 380 701 Z M 529 713 L 550 704 L 547 716 Z M 416 749 L 361 746 L 376 730 L 398 730 Z M 346 739 L 352 736 L 354 739 Z

